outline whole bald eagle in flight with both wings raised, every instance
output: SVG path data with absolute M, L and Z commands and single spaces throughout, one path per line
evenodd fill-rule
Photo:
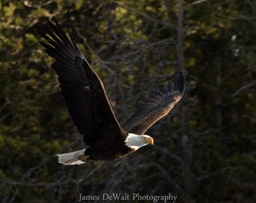
M 79 165 L 89 160 L 123 158 L 147 144 L 151 136 L 144 133 L 180 101 L 184 94 L 182 72 L 163 86 L 120 126 L 108 101 L 102 81 L 87 59 L 78 50 L 69 31 L 69 38 L 57 20 L 47 19 L 41 24 L 40 41 L 46 53 L 56 61 L 51 65 L 56 72 L 61 94 L 78 132 L 83 135 L 85 148 L 72 153 L 58 154 L 59 163 Z

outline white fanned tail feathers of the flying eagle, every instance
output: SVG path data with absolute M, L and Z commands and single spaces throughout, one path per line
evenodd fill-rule
M 79 151 L 75 151 L 72 153 L 60 153 L 57 154 L 57 156 L 59 157 L 59 163 L 63 164 L 63 165 L 79 165 L 79 164 L 83 164 L 85 162 L 82 162 L 81 160 L 78 159 L 78 156 L 84 155 L 84 150 L 79 150 Z

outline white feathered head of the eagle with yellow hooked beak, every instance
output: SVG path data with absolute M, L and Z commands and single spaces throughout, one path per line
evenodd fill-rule
M 147 144 L 154 144 L 154 139 L 149 135 L 129 133 L 124 142 L 127 147 L 133 148 L 133 150 L 138 150 L 139 147 L 143 147 Z

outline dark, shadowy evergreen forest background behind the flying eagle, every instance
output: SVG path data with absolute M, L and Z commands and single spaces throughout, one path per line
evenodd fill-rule
M 57 163 L 83 144 L 38 43 L 52 15 L 72 30 L 120 123 L 184 71 L 184 98 L 147 132 L 154 146 L 114 162 Z M 256 202 L 255 36 L 252 0 L 0 1 L 0 199 Z

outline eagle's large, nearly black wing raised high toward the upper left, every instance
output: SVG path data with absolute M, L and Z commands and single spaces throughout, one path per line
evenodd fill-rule
M 58 75 L 61 93 L 69 114 L 87 146 L 93 144 L 108 129 L 120 131 L 102 81 L 78 50 L 71 33 L 69 38 L 53 17 L 53 23 L 41 25 L 41 35 L 47 42 L 40 42 L 47 54 L 56 62 L 52 68 Z

